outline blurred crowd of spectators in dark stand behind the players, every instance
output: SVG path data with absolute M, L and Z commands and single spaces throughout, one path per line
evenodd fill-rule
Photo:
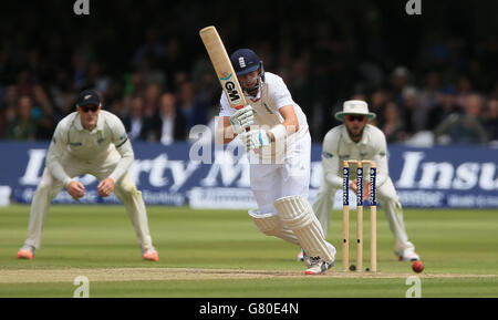
M 344 100 L 362 99 L 391 143 L 498 143 L 498 33 L 475 39 L 450 27 L 421 30 L 403 51 L 390 42 L 376 1 L 362 1 L 369 6 L 356 23 L 345 13 L 326 19 L 328 10 L 341 9 L 335 1 L 318 9 L 294 3 L 282 12 L 274 1 L 274 25 L 240 4 L 239 19 L 210 21 L 227 13 L 218 2 L 168 4 L 174 8 L 166 12 L 158 1 L 137 7 L 124 0 L 120 8 L 92 7 L 90 22 L 38 14 L 37 8 L 23 11 L 22 25 L 2 19 L 0 138 L 50 140 L 58 122 L 75 111 L 77 93 L 90 87 L 102 93 L 104 110 L 123 120 L 132 140 L 170 144 L 187 140 L 195 125 L 212 126 L 221 90 L 197 31 L 216 23 L 229 53 L 251 48 L 266 71 L 283 78 L 315 142 L 339 124 L 333 115 Z M 125 16 L 137 10 L 149 14 Z M 315 10 L 308 12 L 314 19 L 303 10 Z M 105 22 L 110 12 L 114 24 Z M 50 22 L 40 28 L 37 17 Z M 251 30 L 236 33 L 246 20 Z

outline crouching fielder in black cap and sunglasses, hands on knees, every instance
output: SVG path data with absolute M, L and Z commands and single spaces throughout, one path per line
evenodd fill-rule
M 132 144 L 121 120 L 101 109 L 97 92 L 85 90 L 77 97 L 76 112 L 58 124 L 31 204 L 28 238 L 18 251 L 18 259 L 33 259 L 34 250 L 40 248 L 51 200 L 64 187 L 79 200 L 85 195 L 85 187 L 74 177 L 91 174 L 101 180 L 98 195 L 107 197 L 114 192 L 123 202 L 138 238 L 142 258 L 159 260 L 152 244 L 142 193 L 128 173 L 134 161 Z

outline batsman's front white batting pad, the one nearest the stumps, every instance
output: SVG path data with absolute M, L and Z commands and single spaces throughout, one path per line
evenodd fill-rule
M 334 260 L 326 247 L 323 229 L 308 200 L 301 196 L 277 199 L 274 207 L 283 224 L 298 237 L 299 244 L 309 257 L 320 257 L 326 262 Z

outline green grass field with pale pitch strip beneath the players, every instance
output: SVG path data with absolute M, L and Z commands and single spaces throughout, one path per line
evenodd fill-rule
M 35 259 L 17 260 L 29 206 L 12 205 L 0 208 L 0 297 L 73 297 L 74 278 L 85 276 L 90 297 L 403 298 L 415 273 L 395 259 L 384 211 L 377 216 L 376 275 L 341 271 L 342 214 L 334 211 L 328 240 L 338 248 L 336 266 L 304 277 L 298 247 L 260 234 L 245 210 L 148 207 L 160 257 L 151 262 L 141 259 L 124 207 L 53 205 Z M 498 297 L 498 210 L 406 209 L 405 224 L 425 264 L 422 297 Z

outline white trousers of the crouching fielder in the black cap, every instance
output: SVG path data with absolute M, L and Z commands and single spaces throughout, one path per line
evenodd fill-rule
M 111 152 L 103 159 L 94 161 L 82 161 L 68 154 L 61 159 L 61 165 L 70 177 L 91 174 L 102 180 L 114 171 L 120 158 L 121 155 L 117 151 Z M 41 183 L 31 203 L 28 238 L 24 245 L 33 246 L 37 249 L 40 248 L 43 225 L 45 224 L 50 203 L 63 187 L 63 183 L 55 180 L 45 167 Z M 114 194 L 124 204 L 128 213 L 142 250 L 153 249 L 142 193 L 137 190 L 129 173 L 126 173 L 120 180 L 115 182 Z

